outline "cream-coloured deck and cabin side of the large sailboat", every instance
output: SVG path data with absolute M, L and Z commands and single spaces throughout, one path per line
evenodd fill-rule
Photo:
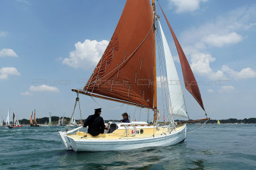
M 175 129 L 172 130 L 172 134 L 179 131 L 180 129 L 182 129 L 184 127 L 184 125 L 178 125 L 176 126 Z M 132 134 L 131 131 L 134 129 L 129 129 L 128 130 L 128 135 L 126 136 L 126 130 L 125 129 L 116 129 L 114 132 L 110 133 L 110 134 L 99 134 L 98 136 L 92 136 L 88 133 L 85 132 L 77 132 L 76 134 L 68 134 L 68 137 L 73 138 L 74 140 L 77 139 L 100 139 L 100 140 L 115 140 L 115 139 L 135 139 L 135 138 L 148 138 L 151 137 L 153 135 L 155 135 L 155 137 L 157 136 L 161 136 L 163 134 L 168 134 L 168 129 L 167 127 L 159 127 L 159 130 L 156 129 L 156 127 L 154 128 L 154 126 L 152 126 L 152 128 L 143 128 L 143 127 L 136 127 L 136 129 L 138 131 L 140 131 L 140 129 L 143 129 L 143 134 Z M 86 137 L 84 138 L 84 135 L 86 135 Z

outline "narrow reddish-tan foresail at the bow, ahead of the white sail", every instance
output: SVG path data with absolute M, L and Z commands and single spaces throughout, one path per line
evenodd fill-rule
M 159 6 L 160 6 L 160 4 L 159 4 Z M 161 8 L 161 6 L 160 6 L 160 8 Z M 178 51 L 178 54 L 179 54 L 179 59 L 180 59 L 180 64 L 181 64 L 181 68 L 182 68 L 185 87 L 190 92 L 190 94 L 193 97 L 195 97 L 196 101 L 198 102 L 198 104 L 200 104 L 202 109 L 205 110 L 204 109 L 204 104 L 203 104 L 203 101 L 202 101 L 202 97 L 201 97 L 201 94 L 200 94 L 200 90 L 199 90 L 198 85 L 196 83 L 196 79 L 195 79 L 195 76 L 194 76 L 194 74 L 191 70 L 191 67 L 189 66 L 186 55 L 183 52 L 183 50 L 180 46 L 180 43 L 179 43 L 177 37 L 175 36 L 175 34 L 172 30 L 172 27 L 171 27 L 170 23 L 168 22 L 168 19 L 166 18 L 166 15 L 164 14 L 164 11 L 163 11 L 162 8 L 161 8 L 161 10 L 162 10 L 164 18 L 165 18 L 165 20 L 168 24 L 168 27 L 169 27 L 169 29 L 172 33 L 172 37 L 173 37 L 174 43 L 176 45 L 176 48 L 177 48 L 177 51 Z

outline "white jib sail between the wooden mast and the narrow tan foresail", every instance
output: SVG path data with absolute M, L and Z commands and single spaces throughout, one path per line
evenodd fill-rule
M 179 76 L 173 61 L 172 53 L 164 36 L 163 29 L 161 27 L 160 21 L 159 26 L 161 30 L 163 47 L 164 47 L 164 55 L 166 62 L 166 71 L 167 71 L 167 81 L 168 81 L 168 89 L 169 89 L 169 106 L 170 113 L 173 116 L 177 117 L 188 117 L 186 106 L 184 102 L 184 96 L 182 92 L 182 87 L 180 85 Z

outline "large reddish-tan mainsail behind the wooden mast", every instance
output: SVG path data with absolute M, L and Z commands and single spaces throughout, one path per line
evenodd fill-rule
M 128 0 L 86 94 L 154 106 L 154 27 L 148 0 Z

